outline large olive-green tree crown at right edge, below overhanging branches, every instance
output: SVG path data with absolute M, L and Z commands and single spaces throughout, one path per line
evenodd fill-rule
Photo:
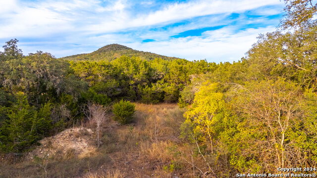
M 259 37 L 248 51 L 250 77 L 284 77 L 303 87 L 316 89 L 317 27 L 296 33 L 273 32 Z

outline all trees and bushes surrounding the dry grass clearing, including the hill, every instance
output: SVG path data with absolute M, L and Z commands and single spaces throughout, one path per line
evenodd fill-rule
M 199 176 L 317 167 L 317 5 L 285 2 L 284 28 L 260 35 L 233 63 L 144 57 L 120 45 L 63 60 L 41 51 L 24 56 L 17 40 L 7 42 L 0 53 L 1 152 L 27 151 L 83 122 L 92 103 L 116 102 L 115 118 L 126 124 L 135 109 L 129 101 L 178 102 L 187 110 L 181 136 L 205 163 Z

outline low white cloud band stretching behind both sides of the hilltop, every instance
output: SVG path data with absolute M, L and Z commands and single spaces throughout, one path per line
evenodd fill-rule
M 108 44 L 122 44 L 137 50 L 150 51 L 166 56 L 175 56 L 188 60 L 207 59 L 209 62 L 238 61 L 245 55 L 245 52 L 251 48 L 257 41 L 260 33 L 274 31 L 273 26 L 259 29 L 247 29 L 234 33 L 233 27 L 225 27 L 215 31 L 207 31 L 200 37 L 186 37 L 178 39 L 169 39 L 149 43 L 135 42 L 129 35 L 107 34 L 87 39 L 67 39 L 68 42 L 83 45 L 60 45 L 52 43 L 46 46 L 39 43 L 37 46 L 28 46 L 21 44 L 23 51 L 34 52 L 43 50 L 51 52 L 57 57 L 89 53 L 99 47 Z M 34 44 L 33 44 L 34 45 Z

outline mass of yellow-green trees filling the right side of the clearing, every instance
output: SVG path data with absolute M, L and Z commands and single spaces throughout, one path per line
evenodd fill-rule
M 179 105 L 189 105 L 182 136 L 210 174 L 317 166 L 316 5 L 286 3 L 281 25 L 292 32 L 260 35 L 241 61 L 196 75 L 180 93 Z

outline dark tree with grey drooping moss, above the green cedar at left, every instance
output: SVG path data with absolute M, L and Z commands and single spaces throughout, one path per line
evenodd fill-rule
M 22 58 L 5 61 L 2 86 L 23 91 L 28 100 L 40 106 L 65 91 L 64 78 L 67 63 L 57 60 L 50 53 L 38 51 Z

